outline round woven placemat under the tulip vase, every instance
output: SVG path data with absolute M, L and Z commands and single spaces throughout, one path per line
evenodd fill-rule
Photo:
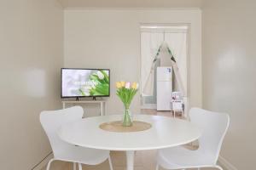
M 104 122 L 99 126 L 102 130 L 115 132 L 115 133 L 131 133 L 131 132 L 139 132 L 148 130 L 152 127 L 152 125 L 148 122 L 139 122 L 134 121 L 132 122 L 131 127 L 123 127 L 122 122 L 115 121 L 115 122 Z

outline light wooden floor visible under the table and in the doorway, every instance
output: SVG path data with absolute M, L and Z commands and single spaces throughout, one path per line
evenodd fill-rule
M 160 116 L 172 116 L 170 111 L 155 111 L 155 110 L 143 110 L 143 114 L 148 115 L 160 115 Z M 181 116 L 179 116 L 181 118 Z M 125 152 L 124 151 L 111 151 L 110 153 L 113 170 L 125 170 Z M 155 169 L 155 156 L 156 150 L 137 151 L 135 156 L 135 170 L 154 170 Z M 88 166 L 83 165 L 83 170 L 108 170 L 108 161 L 104 161 L 100 165 Z M 45 167 L 42 169 L 45 170 Z M 53 161 L 50 170 L 73 170 L 73 164 L 65 161 Z M 162 170 L 160 168 L 160 170 Z M 201 170 L 213 170 L 213 168 L 203 168 Z

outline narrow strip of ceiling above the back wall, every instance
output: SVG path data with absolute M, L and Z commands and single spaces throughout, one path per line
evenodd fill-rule
M 64 8 L 201 8 L 202 0 L 59 0 Z

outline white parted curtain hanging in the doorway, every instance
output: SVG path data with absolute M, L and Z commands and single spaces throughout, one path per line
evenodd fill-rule
M 155 80 L 154 74 L 150 75 L 150 71 L 154 57 L 163 42 L 167 43 L 177 61 L 181 82 L 185 90 L 184 94 L 187 94 L 187 31 L 168 31 L 165 33 L 145 31 L 141 34 L 141 84 L 143 96 L 153 95 Z M 171 57 L 166 53 L 166 50 L 161 53 L 159 55 L 160 65 L 172 66 L 170 65 Z M 174 82 L 174 90 L 179 91 L 175 77 Z

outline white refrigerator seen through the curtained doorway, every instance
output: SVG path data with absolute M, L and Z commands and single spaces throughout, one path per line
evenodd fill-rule
M 157 111 L 172 110 L 172 67 L 157 67 Z

